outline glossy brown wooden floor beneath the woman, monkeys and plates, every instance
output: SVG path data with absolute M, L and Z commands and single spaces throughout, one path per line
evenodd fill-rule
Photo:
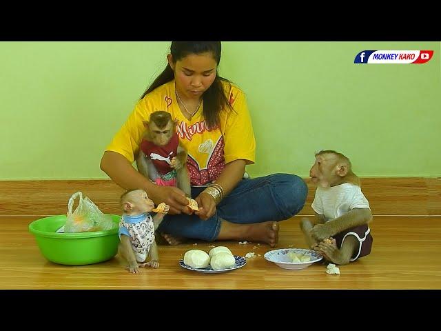
M 0 289 L 441 289 L 441 217 L 376 216 L 371 223 L 369 256 L 340 266 L 340 275 L 326 274 L 326 265 L 284 270 L 263 259 L 268 245 L 216 242 L 234 254 L 255 252 L 238 270 L 201 274 L 178 265 L 183 253 L 210 243 L 160 246 L 160 268 L 129 274 L 119 257 L 83 266 L 47 261 L 28 232 L 39 217 L 0 216 Z M 305 248 L 294 217 L 280 223 L 277 248 Z

